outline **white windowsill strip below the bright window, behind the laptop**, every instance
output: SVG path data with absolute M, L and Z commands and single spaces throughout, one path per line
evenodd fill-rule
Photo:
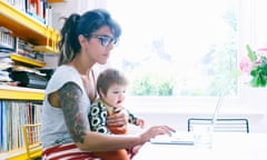
M 181 100 L 174 98 L 127 98 L 126 107 L 137 114 L 201 114 L 211 116 L 218 98 Z M 267 109 L 258 109 L 238 103 L 236 99 L 225 99 L 219 111 L 221 116 L 264 117 Z

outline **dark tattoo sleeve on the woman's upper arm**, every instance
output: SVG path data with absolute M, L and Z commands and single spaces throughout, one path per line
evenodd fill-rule
M 83 143 L 83 136 L 89 130 L 89 123 L 87 113 L 81 109 L 81 89 L 76 83 L 68 82 L 59 90 L 59 96 L 70 136 L 75 142 Z

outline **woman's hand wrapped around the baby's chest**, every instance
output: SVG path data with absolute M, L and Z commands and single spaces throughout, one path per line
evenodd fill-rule
M 128 113 L 123 108 L 116 108 L 115 114 L 109 116 L 107 119 L 108 126 L 116 126 L 118 130 L 123 130 L 128 123 Z

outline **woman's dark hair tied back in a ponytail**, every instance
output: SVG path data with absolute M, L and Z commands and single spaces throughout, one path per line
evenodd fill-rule
M 95 9 L 87 11 L 82 16 L 72 13 L 61 29 L 61 40 L 59 41 L 59 66 L 73 60 L 80 52 L 81 46 L 78 41 L 80 34 L 90 38 L 91 33 L 103 26 L 108 26 L 115 39 L 121 34 L 120 26 L 111 18 L 108 11 Z

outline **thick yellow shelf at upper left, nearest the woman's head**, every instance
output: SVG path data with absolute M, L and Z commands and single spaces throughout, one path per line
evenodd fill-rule
M 29 14 L 0 0 L 0 26 L 12 30 L 16 37 L 37 44 L 47 52 L 58 52 L 59 32 Z

